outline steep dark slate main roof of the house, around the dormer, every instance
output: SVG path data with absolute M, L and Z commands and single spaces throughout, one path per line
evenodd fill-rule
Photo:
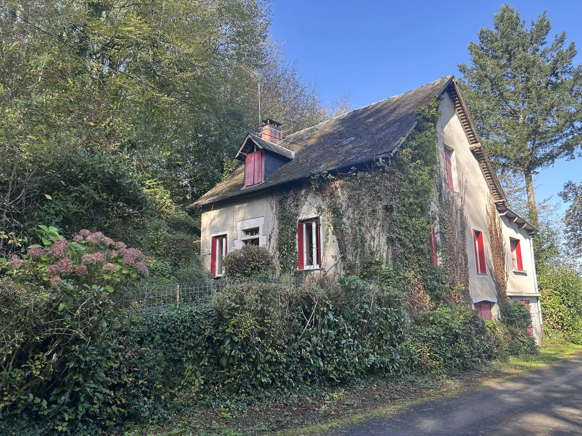
M 244 187 L 244 166 L 237 167 L 192 206 L 248 195 L 314 173 L 350 167 L 392 153 L 416 126 L 416 109 L 440 95 L 453 78 L 443 77 L 416 90 L 293 133 L 276 145 L 294 152 L 294 159 L 276 170 L 267 180 Z

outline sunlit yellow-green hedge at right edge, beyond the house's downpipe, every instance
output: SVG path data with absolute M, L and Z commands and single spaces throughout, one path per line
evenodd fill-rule
M 570 266 L 557 265 L 542 271 L 538 283 L 544 329 L 582 345 L 582 277 Z

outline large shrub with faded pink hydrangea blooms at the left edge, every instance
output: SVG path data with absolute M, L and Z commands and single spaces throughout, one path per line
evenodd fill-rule
M 143 254 L 100 232 L 72 242 L 40 226 L 43 245 L 0 259 L 0 412 L 70 420 L 119 413 L 108 389 L 115 360 L 113 286 L 145 277 Z

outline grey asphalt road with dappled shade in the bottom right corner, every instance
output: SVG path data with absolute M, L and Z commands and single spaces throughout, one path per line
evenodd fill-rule
M 345 436 L 582 435 L 582 356 L 494 387 L 423 403 Z

